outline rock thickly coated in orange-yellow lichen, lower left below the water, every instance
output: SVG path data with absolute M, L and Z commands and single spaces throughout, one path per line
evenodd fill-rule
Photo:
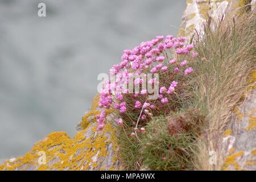
M 94 123 L 95 125 L 95 123 Z M 75 138 L 71 139 L 65 132 L 54 132 L 35 144 L 30 152 L 19 157 L 15 162 L 8 160 L 0 166 L 0 170 L 89 170 L 100 166 L 100 163 L 108 155 L 108 147 L 112 144 L 112 150 L 117 151 L 117 129 L 110 123 L 106 123 L 103 131 L 92 132 L 93 123 L 85 130 L 79 131 Z M 89 131 L 89 132 L 88 132 Z M 89 133 L 89 136 L 88 136 Z M 109 137 L 110 136 L 110 137 Z M 43 151 L 45 163 L 39 163 L 38 152 Z M 118 152 L 113 154 L 113 165 L 117 166 Z M 108 170 L 108 168 L 103 168 Z

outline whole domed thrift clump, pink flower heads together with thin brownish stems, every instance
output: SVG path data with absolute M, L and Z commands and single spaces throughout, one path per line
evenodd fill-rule
M 179 98 L 185 97 L 183 82 L 193 72 L 187 60 L 198 56 L 193 45 L 185 42 L 183 37 L 156 36 L 123 51 L 121 63 L 110 69 L 111 78 L 102 86 L 99 106 L 113 109 L 119 116 L 115 122 L 129 126 L 130 136 L 144 133 L 144 126 L 151 117 L 176 110 Z M 157 97 L 150 99 L 153 87 Z M 102 130 L 106 122 L 105 111 L 96 119 L 97 130 Z

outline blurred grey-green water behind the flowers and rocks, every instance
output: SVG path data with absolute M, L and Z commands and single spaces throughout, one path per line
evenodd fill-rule
M 52 131 L 73 137 L 97 75 L 123 49 L 176 35 L 170 24 L 179 27 L 184 8 L 176 0 L 0 0 L 0 160 Z

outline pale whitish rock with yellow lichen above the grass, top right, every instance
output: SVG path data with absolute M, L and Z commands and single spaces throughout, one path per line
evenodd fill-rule
M 216 20 L 230 9 L 242 11 L 254 8 L 254 0 L 187 0 L 178 36 L 191 38 L 195 30 L 203 31 L 201 26 L 205 20 Z

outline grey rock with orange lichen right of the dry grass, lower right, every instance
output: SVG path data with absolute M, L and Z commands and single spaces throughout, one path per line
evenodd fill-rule
M 256 170 L 256 90 L 236 110 L 224 133 L 224 170 Z

